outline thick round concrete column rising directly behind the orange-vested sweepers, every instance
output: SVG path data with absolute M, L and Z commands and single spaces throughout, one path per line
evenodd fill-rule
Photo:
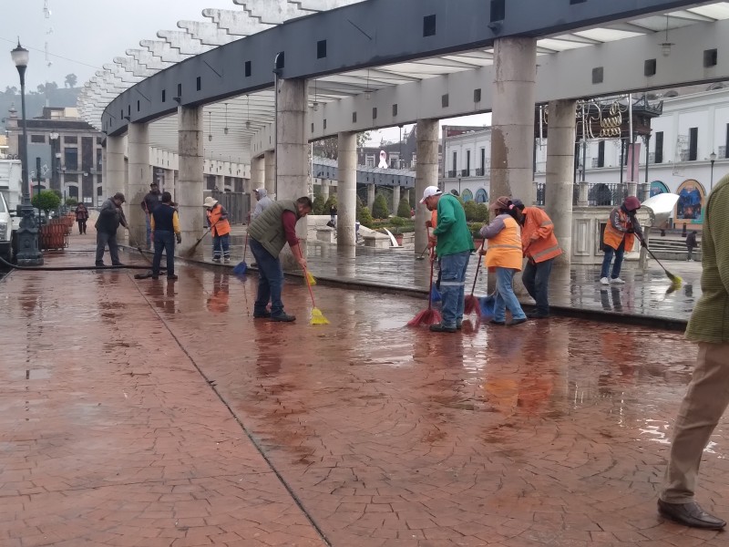
M 529 202 L 534 149 L 537 40 L 498 38 L 494 44 L 491 195 Z M 551 124 L 549 126 L 551 128 Z M 417 155 L 420 162 L 420 154 Z

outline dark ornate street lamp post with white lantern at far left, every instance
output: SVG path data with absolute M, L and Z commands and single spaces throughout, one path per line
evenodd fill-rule
M 23 117 L 23 203 L 18 206 L 18 214 L 20 215 L 20 227 L 17 231 L 17 252 L 15 259 L 18 264 L 26 266 L 36 266 L 43 264 L 43 253 L 38 249 L 38 225 L 33 206 L 30 204 L 30 186 L 28 183 L 28 172 L 30 164 L 28 163 L 28 135 L 26 128 L 26 68 L 28 66 L 28 50 L 20 46 L 18 40 L 17 47 L 10 52 L 20 76 L 20 104 L 21 115 Z

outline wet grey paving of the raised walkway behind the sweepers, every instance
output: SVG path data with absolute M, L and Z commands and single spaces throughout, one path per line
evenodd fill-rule
M 231 237 L 231 266 L 242 259 L 245 228 L 236 226 Z M 210 263 L 210 238 L 201 246 L 204 261 Z M 328 284 L 343 287 L 375 287 L 399 293 L 426 294 L 429 283 L 429 261 L 416 260 L 412 248 L 374 249 L 358 246 L 338 249 L 331 243 L 308 243 L 307 261 L 312 273 Z M 253 262 L 251 251 L 246 262 Z M 637 261 L 623 263 L 624 285 L 604 286 L 599 283 L 599 266 L 572 265 L 555 268 L 549 282 L 549 301 L 554 313 L 599 318 L 611 321 L 633 320 L 639 324 L 672 327 L 683 330 L 693 304 L 701 296 L 701 263 L 662 261 L 673 274 L 683 278 L 680 290 L 668 293 L 671 282 L 661 267 L 649 261 L 647 271 Z M 477 260 L 472 255 L 467 272 L 467 292 L 473 287 Z M 221 266 L 224 267 L 224 266 Z M 298 272 L 294 272 L 298 274 Z M 475 294 L 488 293 L 487 272 L 481 269 Z M 534 304 L 529 295 L 519 297 L 526 305 Z

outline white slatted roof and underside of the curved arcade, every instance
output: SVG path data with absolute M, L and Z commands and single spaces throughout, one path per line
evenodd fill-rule
M 102 112 L 111 100 L 164 68 L 288 20 L 361 1 L 234 0 L 230 10 L 205 9 L 204 21 L 179 21 L 177 30 L 160 30 L 157 39 L 142 40 L 139 47 L 128 49 L 124 57 L 115 57 L 85 84 L 79 109 L 89 123 L 100 129 Z M 538 40 L 538 55 L 555 56 L 563 51 L 641 35 L 664 34 L 665 42 L 670 43 L 674 29 L 729 19 L 729 2 L 696 4 L 667 14 L 543 37 Z M 485 48 L 319 77 L 310 81 L 309 107 L 316 110 L 323 103 L 492 64 L 493 49 Z M 272 89 L 206 105 L 203 108 L 205 156 L 248 163 L 252 138 L 272 124 L 273 108 Z M 177 150 L 177 116 L 152 122 L 150 139 L 152 146 Z

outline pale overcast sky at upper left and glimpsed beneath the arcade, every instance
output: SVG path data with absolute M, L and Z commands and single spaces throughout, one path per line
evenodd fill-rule
M 105 63 L 139 46 L 139 40 L 158 39 L 160 29 L 177 29 L 180 19 L 210 21 L 201 14 L 206 7 L 240 9 L 232 0 L 2 0 L 0 5 L 4 8 L 0 15 L 0 45 L 5 45 L 5 54 L 0 53 L 0 90 L 19 87 L 10 58 L 18 36 L 21 45 L 30 50 L 28 89 L 35 90 L 46 81 L 63 87 L 71 73 L 78 78 L 77 86 L 82 86 Z M 483 125 L 489 120 L 490 116 L 482 115 L 447 123 Z M 396 140 L 399 129 L 385 130 L 381 135 Z M 379 135 L 373 137 L 371 142 L 379 143 Z

